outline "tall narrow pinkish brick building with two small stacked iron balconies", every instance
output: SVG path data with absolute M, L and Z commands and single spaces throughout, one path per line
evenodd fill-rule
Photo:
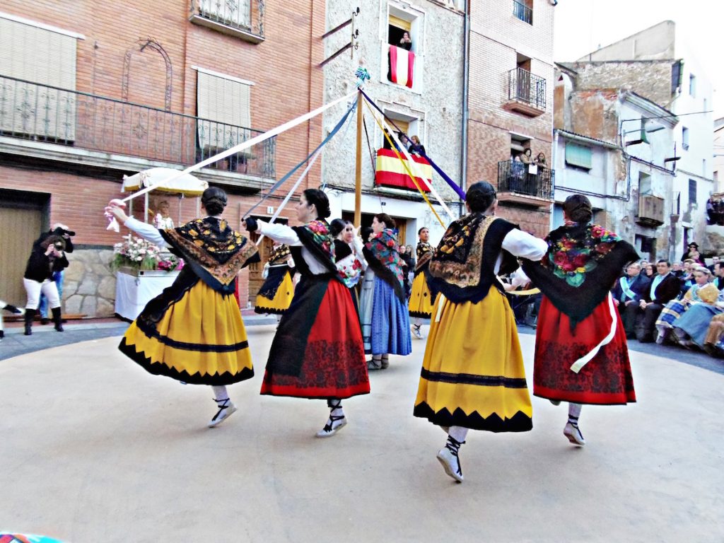
M 552 172 L 513 157 L 530 148 L 550 164 L 553 12 L 542 0 L 470 2 L 466 182 L 497 185 L 497 214 L 535 235 L 549 230 Z

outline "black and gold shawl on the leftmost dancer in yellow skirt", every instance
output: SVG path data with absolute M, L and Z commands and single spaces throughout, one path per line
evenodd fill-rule
M 169 251 L 183 258 L 206 285 L 224 295 L 234 293 L 240 269 L 259 261 L 256 245 L 232 230 L 224 219 L 194 219 L 159 232 Z

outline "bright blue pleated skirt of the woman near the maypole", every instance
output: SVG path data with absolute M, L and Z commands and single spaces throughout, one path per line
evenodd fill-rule
M 371 351 L 374 355 L 408 355 L 412 352 L 410 317 L 395 290 L 379 277 L 374 278 Z

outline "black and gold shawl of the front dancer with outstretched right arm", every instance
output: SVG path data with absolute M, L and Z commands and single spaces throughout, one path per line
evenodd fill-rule
M 518 268 L 515 256 L 502 249 L 502 240 L 515 224 L 482 213 L 471 213 L 452 222 L 442 236 L 429 264 L 428 285 L 455 303 L 478 303 L 491 285 L 503 292 L 495 277 L 495 262 L 502 251 L 499 273 Z

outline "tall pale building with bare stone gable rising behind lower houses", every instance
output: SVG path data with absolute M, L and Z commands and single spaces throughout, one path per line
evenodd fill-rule
M 564 64 L 576 72 L 578 89 L 631 90 L 680 116 L 670 150 L 678 160 L 667 210 L 677 224 L 672 251 L 678 255 L 691 241 L 705 242 L 706 202 L 716 190 L 713 89 L 707 67 L 697 58 L 697 47 L 703 46 L 684 39 L 673 21 L 662 21 Z M 635 124 L 628 122 L 626 130 Z

